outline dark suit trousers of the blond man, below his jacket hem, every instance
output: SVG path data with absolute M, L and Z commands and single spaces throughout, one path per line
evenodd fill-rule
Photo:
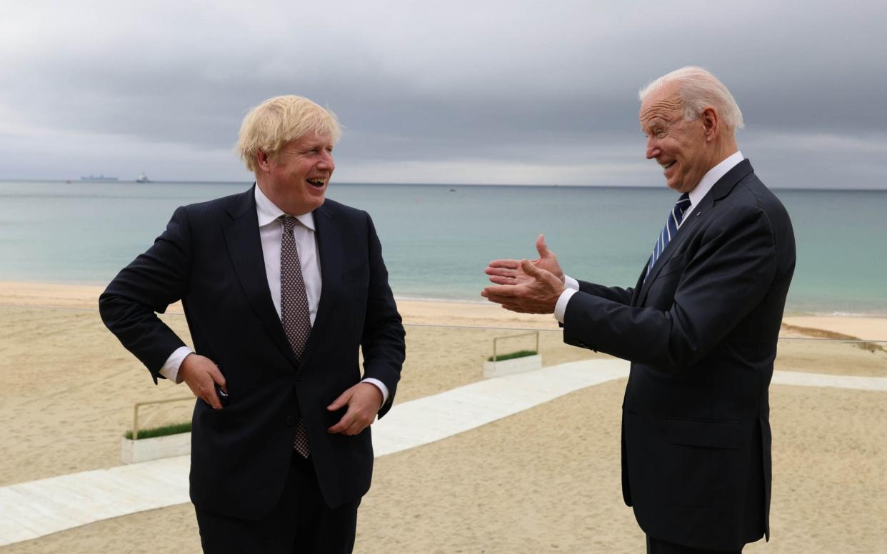
M 287 485 L 271 513 L 257 521 L 195 508 L 200 544 L 207 554 L 350 554 L 360 499 L 336 509 L 326 505 L 310 458 L 295 451 Z

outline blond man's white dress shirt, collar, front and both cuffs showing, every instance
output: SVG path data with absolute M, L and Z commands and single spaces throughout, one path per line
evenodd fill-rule
M 281 215 L 287 215 L 279 207 L 275 206 L 266 197 L 259 185 L 255 185 L 255 214 L 259 220 L 259 238 L 262 240 L 262 255 L 265 261 L 265 275 L 268 277 L 268 289 L 271 291 L 271 301 L 274 309 L 280 317 L 280 245 L 283 240 L 283 222 L 279 221 Z M 320 303 L 320 290 L 323 287 L 323 279 L 320 275 L 320 259 L 318 258 L 318 239 L 314 229 L 314 214 L 309 212 L 304 215 L 296 215 L 299 225 L 293 230 L 295 246 L 299 251 L 299 261 L 302 265 L 302 279 L 305 282 L 305 294 L 308 296 L 308 309 L 311 325 L 318 316 L 318 304 Z M 178 368 L 185 356 L 192 354 L 190 347 L 178 347 L 172 355 L 169 355 L 166 363 L 163 363 L 161 375 L 173 383 L 181 383 L 178 379 Z M 389 390 L 379 379 L 365 378 L 368 383 L 377 386 L 382 394 L 382 403 L 388 402 Z

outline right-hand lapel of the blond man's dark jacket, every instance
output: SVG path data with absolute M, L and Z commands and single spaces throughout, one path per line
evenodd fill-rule
M 317 349 L 320 337 L 329 334 L 326 332 L 326 324 L 335 308 L 336 299 L 341 298 L 341 270 L 342 270 L 342 246 L 341 230 L 334 222 L 335 212 L 324 204 L 314 210 L 314 226 L 318 239 L 318 257 L 320 259 L 320 278 L 323 283 L 320 289 L 320 301 L 318 314 L 311 325 L 311 333 L 305 352 L 302 355 L 302 363 Z

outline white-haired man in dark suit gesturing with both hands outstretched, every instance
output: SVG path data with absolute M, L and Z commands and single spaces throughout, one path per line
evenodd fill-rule
M 736 146 L 742 113 L 714 75 L 684 67 L 640 91 L 647 158 L 681 193 L 636 285 L 497 260 L 483 295 L 554 313 L 564 341 L 631 360 L 622 419 L 625 503 L 651 553 L 739 552 L 769 538 L 768 386 L 795 238 Z

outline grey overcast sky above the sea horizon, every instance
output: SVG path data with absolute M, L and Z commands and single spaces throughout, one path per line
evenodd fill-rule
M 0 4 L 0 179 L 251 181 L 245 111 L 346 127 L 334 182 L 663 185 L 637 90 L 704 66 L 772 187 L 887 189 L 887 3 Z

